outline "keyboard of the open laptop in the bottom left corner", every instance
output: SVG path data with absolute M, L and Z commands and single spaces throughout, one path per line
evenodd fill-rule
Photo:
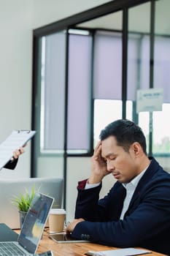
M 23 252 L 18 246 L 14 243 L 0 243 L 0 255 L 1 256 L 23 256 L 27 255 L 25 252 Z

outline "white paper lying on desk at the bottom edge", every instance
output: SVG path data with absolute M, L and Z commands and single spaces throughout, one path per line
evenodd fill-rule
M 111 249 L 108 251 L 93 252 L 89 251 L 85 255 L 90 256 L 132 256 L 132 255 L 146 255 L 151 253 L 146 249 L 135 249 L 135 248 L 123 248 L 123 249 Z

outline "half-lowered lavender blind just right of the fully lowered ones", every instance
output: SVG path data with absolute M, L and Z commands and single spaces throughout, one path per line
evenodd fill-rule
M 93 97 L 122 99 L 122 34 L 97 31 L 94 39 Z

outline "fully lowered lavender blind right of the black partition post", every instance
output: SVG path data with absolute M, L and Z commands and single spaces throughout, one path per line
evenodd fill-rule
M 69 35 L 69 150 L 87 151 L 90 147 L 91 53 L 90 35 Z

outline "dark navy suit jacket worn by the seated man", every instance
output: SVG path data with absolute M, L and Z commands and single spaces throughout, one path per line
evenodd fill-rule
M 141 246 L 170 255 L 170 174 L 152 159 L 123 220 L 125 188 L 116 182 L 98 200 L 101 186 L 79 189 L 75 218 L 83 218 L 72 236 L 117 247 Z

